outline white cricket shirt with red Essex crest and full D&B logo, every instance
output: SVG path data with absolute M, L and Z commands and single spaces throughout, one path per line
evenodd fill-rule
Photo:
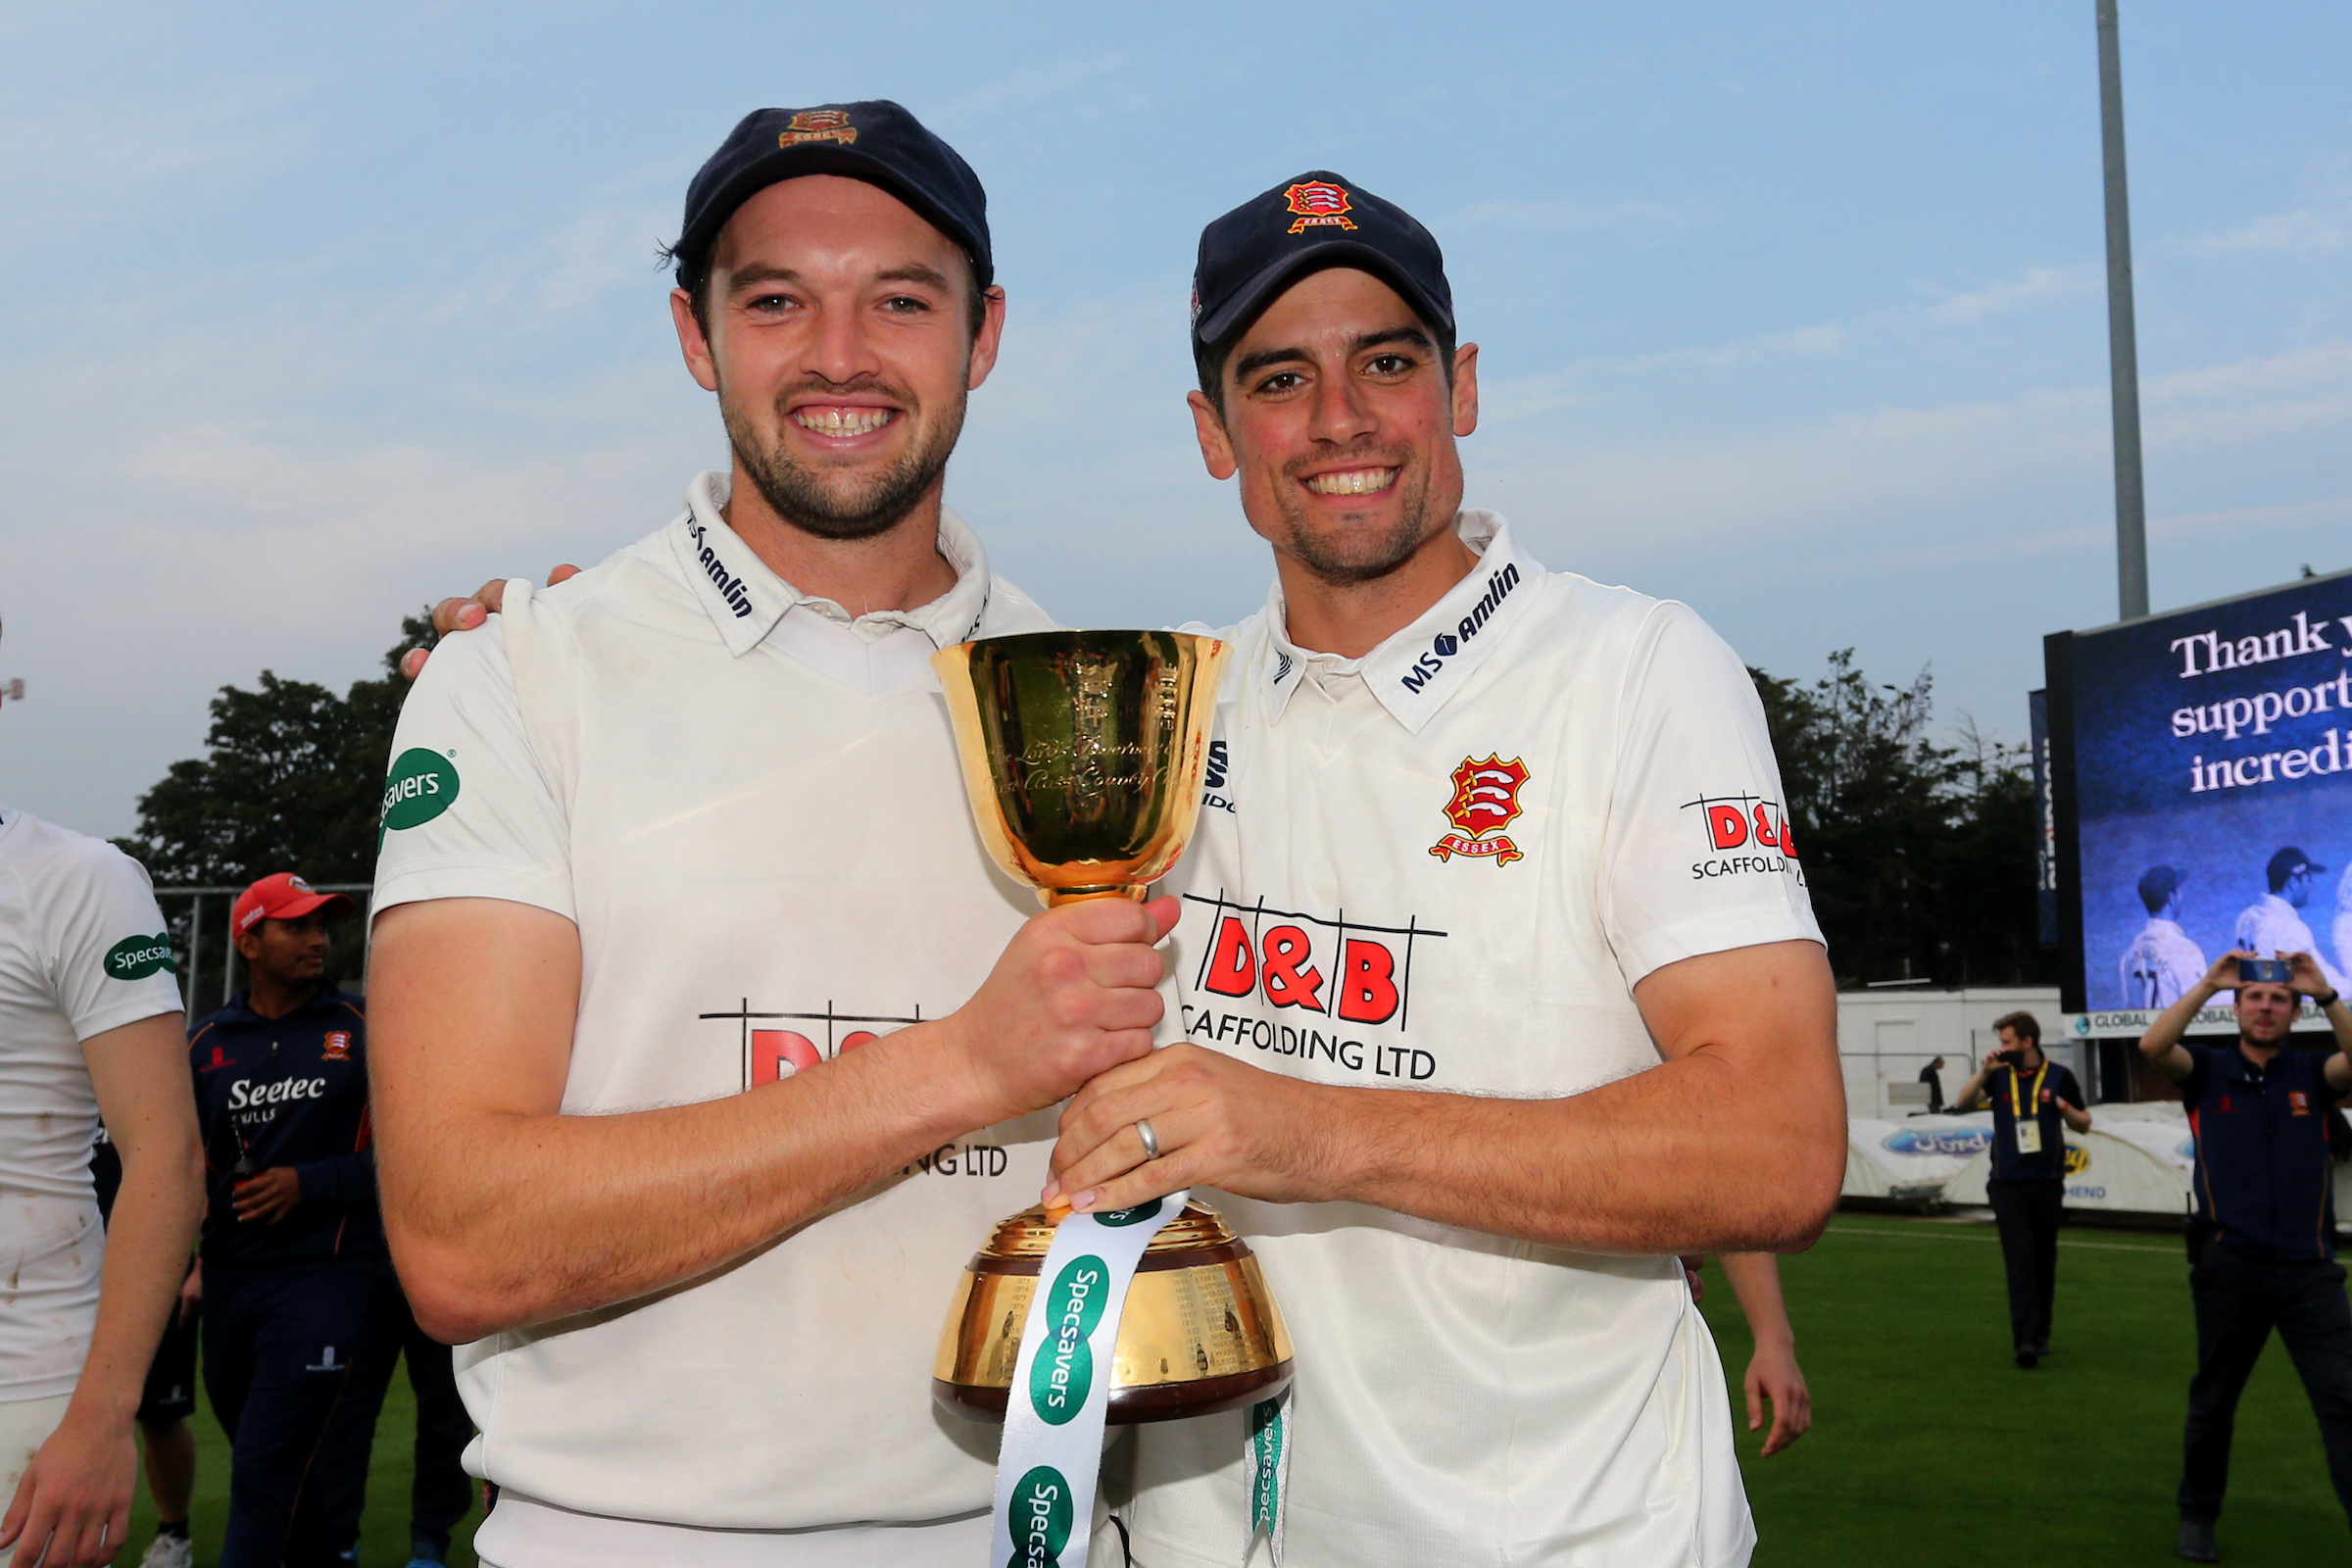
M 1632 985 L 1820 940 L 1764 710 L 1682 604 L 1482 559 L 1362 661 L 1244 621 L 1169 1037 L 1357 1088 L 1573 1095 L 1658 1065 Z M 1291 1338 L 1287 1563 L 1740 1563 L 1715 1342 L 1672 1258 L 1209 1194 Z M 1136 1429 L 1136 1563 L 1235 1568 L 1242 1415 Z M 1258 1552 L 1263 1554 L 1263 1544 Z

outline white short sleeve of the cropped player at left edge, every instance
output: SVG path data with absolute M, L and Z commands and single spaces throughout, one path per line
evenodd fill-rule
M 179 1013 L 172 931 L 146 867 L 113 844 L 73 839 L 40 891 L 56 1006 L 75 1039 Z

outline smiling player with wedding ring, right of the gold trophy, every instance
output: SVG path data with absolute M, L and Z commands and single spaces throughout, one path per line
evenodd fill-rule
M 1835 985 L 1755 691 L 1686 609 L 1543 574 L 1461 510 L 1477 348 L 1454 348 L 1437 242 L 1402 209 L 1312 172 L 1211 223 L 1195 357 L 1202 456 L 1277 571 L 1228 632 L 1230 811 L 1167 884 L 1204 1044 L 1089 1081 L 1044 1197 L 1221 1190 L 1298 1342 L 1289 1563 L 1743 1563 L 1722 1368 L 1675 1253 L 1804 1248 L 1844 1168 Z M 1578 708 L 1625 717 L 1585 733 Z M 1491 745 L 1524 764 L 1465 780 Z M 1722 792 L 1743 795 L 1715 846 L 1736 825 L 1755 853 L 1700 875 L 1691 797 Z M 1322 1030 L 1352 1039 L 1317 1051 Z M 1599 1371 L 1564 1366 L 1578 1347 Z M 1136 1429 L 1134 1563 L 1265 1561 L 1242 1432 Z

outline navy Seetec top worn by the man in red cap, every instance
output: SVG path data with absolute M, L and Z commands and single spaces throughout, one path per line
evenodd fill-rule
M 249 992 L 188 1034 L 205 1133 L 205 1267 L 381 1260 L 376 1154 L 367 1119 L 367 1013 L 322 990 L 285 1018 Z M 238 1157 L 252 1171 L 294 1166 L 301 1201 L 275 1225 L 238 1220 Z

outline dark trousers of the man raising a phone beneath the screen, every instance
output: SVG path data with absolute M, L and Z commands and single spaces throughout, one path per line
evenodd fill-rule
M 2197 1375 L 2183 1439 L 2180 1516 L 2213 1523 L 2230 1486 L 2237 1396 L 2277 1328 L 2319 1418 L 2336 1500 L 2352 1519 L 2352 1305 L 2333 1262 L 2265 1262 L 2206 1244 L 2190 1269 Z

